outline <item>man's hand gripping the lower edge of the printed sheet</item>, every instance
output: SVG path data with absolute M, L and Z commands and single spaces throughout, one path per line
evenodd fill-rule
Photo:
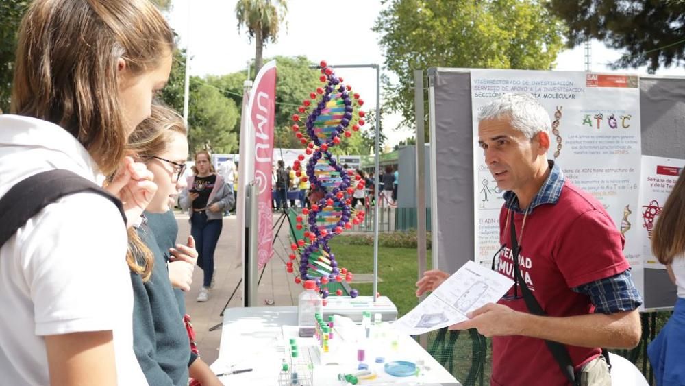
M 449 326 L 449 330 L 476 328 L 486 337 L 519 335 L 525 314 L 502 304 L 488 303 L 468 313 L 469 320 Z

